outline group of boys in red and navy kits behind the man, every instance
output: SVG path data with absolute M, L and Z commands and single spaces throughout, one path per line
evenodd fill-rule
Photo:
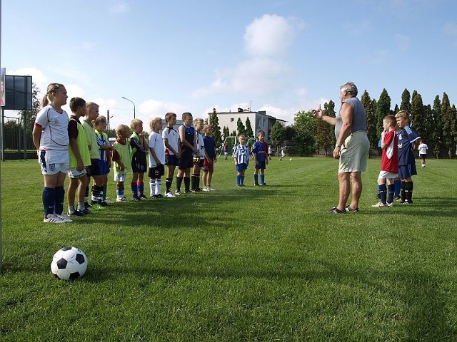
M 372 207 L 393 207 L 394 197 L 401 204 L 413 203 L 412 176 L 417 175 L 414 150 L 422 140 L 410 127 L 409 116 L 406 110 L 400 110 L 395 116 L 386 115 L 383 118 L 381 172 L 378 176 L 378 197 L 381 201 Z M 421 157 L 424 166 L 425 155 Z M 396 191 L 396 184 L 400 191 Z

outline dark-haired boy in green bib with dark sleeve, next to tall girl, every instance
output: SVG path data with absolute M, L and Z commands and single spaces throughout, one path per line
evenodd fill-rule
M 86 167 L 91 166 L 91 156 L 87 145 L 84 128 L 79 118 L 86 115 L 86 101 L 82 98 L 71 98 L 70 109 L 72 115 L 69 121 L 69 188 L 66 192 L 66 198 L 69 206 L 69 216 L 84 216 L 89 213 L 84 205 L 84 194 L 86 187 L 89 185 Z M 75 208 L 74 197 L 77 192 L 78 207 Z

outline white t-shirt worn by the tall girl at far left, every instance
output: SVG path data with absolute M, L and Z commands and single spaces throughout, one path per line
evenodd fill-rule
M 42 128 L 40 150 L 69 150 L 69 115 L 59 113 L 51 105 L 41 108 L 35 125 Z

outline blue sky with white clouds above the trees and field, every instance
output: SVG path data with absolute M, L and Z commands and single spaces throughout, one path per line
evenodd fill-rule
M 40 99 L 63 83 L 111 128 L 133 119 L 123 96 L 144 123 L 239 107 L 291 125 L 346 81 L 359 98 L 385 88 L 392 109 L 405 88 L 456 103 L 456 13 L 455 0 L 3 0 L 1 66 Z

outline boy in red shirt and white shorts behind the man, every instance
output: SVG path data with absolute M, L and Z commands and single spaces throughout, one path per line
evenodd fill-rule
M 383 118 L 383 133 L 381 133 L 381 172 L 378 176 L 378 193 L 381 202 L 371 207 L 393 207 L 395 193 L 395 178 L 398 176 L 398 138 L 395 132 L 396 118 L 386 115 Z M 387 182 L 387 187 L 386 187 Z M 388 198 L 387 198 L 388 191 Z M 358 208 L 346 207 L 346 212 L 358 212 Z

